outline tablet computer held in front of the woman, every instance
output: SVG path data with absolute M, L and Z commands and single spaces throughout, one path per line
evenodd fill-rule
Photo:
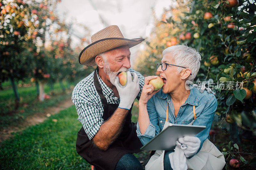
M 184 136 L 195 136 L 200 131 L 204 130 L 206 126 L 194 126 L 183 124 L 172 124 L 166 129 L 157 134 L 146 145 L 142 146 L 141 150 L 156 151 L 164 150 L 170 151 L 175 148 L 178 138 Z

